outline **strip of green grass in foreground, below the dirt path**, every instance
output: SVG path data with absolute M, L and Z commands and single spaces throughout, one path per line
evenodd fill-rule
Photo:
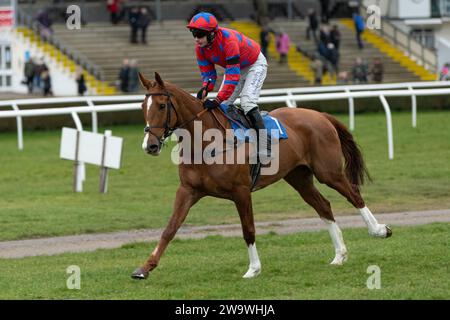
M 396 227 L 389 239 L 366 229 L 343 231 L 344 266 L 331 266 L 327 232 L 257 238 L 262 273 L 242 279 L 248 257 L 239 237 L 175 240 L 146 281 L 131 272 L 155 243 L 120 249 L 0 260 L 0 299 L 450 299 L 450 224 Z M 69 290 L 66 269 L 81 269 L 81 289 Z M 369 290 L 367 268 L 381 270 Z

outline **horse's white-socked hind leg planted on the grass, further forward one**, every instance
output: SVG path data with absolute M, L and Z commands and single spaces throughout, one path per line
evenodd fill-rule
M 330 202 L 314 186 L 311 170 L 300 166 L 291 171 L 284 179 L 300 193 L 301 197 L 317 211 L 320 218 L 327 224 L 336 254 L 331 264 L 343 264 L 347 260 L 347 248 L 341 229 L 334 220 Z

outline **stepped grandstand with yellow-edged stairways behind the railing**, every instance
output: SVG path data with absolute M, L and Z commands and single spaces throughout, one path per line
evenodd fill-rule
M 281 29 L 286 31 L 292 41 L 292 46 L 288 64 L 278 64 L 272 37 L 269 47 L 269 70 L 264 88 L 312 85 L 313 75 L 309 67 L 310 60 L 303 53 L 314 53 L 316 47 L 312 40 L 306 39 L 307 20 L 305 14 L 309 7 L 316 7 L 319 10 L 318 2 L 291 1 L 290 9 L 287 6 L 288 1 L 265 2 L 269 7 L 268 13 L 271 18 L 269 26 L 274 31 Z M 158 8 L 155 4 L 145 1 L 127 1 L 124 7 L 125 19 L 127 10 L 133 5 L 145 5 L 150 9 L 153 22 L 148 30 L 147 46 L 130 44 L 130 27 L 126 21 L 122 21 L 118 25 L 111 25 L 104 1 L 86 0 L 80 4 L 84 10 L 83 25 L 80 30 L 66 28 L 64 9 L 68 2 L 58 1 L 48 6 L 48 1 L 19 1 L 19 12 L 23 15 L 34 15 L 44 7 L 50 10 L 55 21 L 53 25 L 55 43 L 58 44 L 53 47 L 43 45 L 31 29 L 21 26 L 22 29 L 18 30 L 21 31 L 21 35 L 29 45 L 42 47 L 38 54 L 46 55 L 50 64 L 61 64 L 61 70 L 65 75 L 64 81 L 73 81 L 76 64 L 85 67 L 85 76 L 91 94 L 119 93 L 116 89 L 116 82 L 124 58 L 137 59 L 140 71 L 145 74 L 158 71 L 165 80 L 171 81 L 187 91 L 197 91 L 200 85 L 200 75 L 195 61 L 194 42 L 185 25 L 189 16 L 198 10 L 206 9 L 216 13 L 222 20 L 222 26 L 237 29 L 259 41 L 260 27 L 249 19 L 255 17 L 255 9 L 251 1 L 214 0 L 202 5 L 190 0 L 166 0 L 160 3 L 161 7 Z M 359 50 L 352 22 L 349 19 L 351 10 L 345 10 L 347 2 L 331 1 L 331 3 L 334 17 L 330 20 L 330 25 L 338 25 L 342 35 L 340 70 L 350 72 L 357 56 L 362 57 L 369 65 L 374 57 L 380 57 L 385 69 L 383 82 L 410 82 L 436 78 L 437 70 L 425 69 L 420 61 L 410 59 L 404 48 L 403 50 L 399 49 L 395 43 L 382 38 L 375 32 L 369 30 L 365 32 L 365 48 Z M 23 20 L 20 23 L 23 24 Z M 303 53 L 296 50 L 297 46 L 300 46 Z M 64 52 L 57 52 L 57 50 Z M 76 55 L 67 52 L 76 52 Z M 23 64 L 23 61 L 19 61 L 19 67 L 16 66 L 18 73 L 23 68 L 20 63 Z M 88 70 L 87 65 L 91 66 L 95 72 L 91 69 Z M 437 66 L 435 67 L 437 68 Z M 59 72 L 60 69 L 57 70 Z M 218 83 L 220 83 L 221 68 L 218 68 L 218 71 Z M 17 84 L 18 81 L 16 80 L 15 83 Z M 324 78 L 323 84 L 325 85 L 335 83 L 336 79 L 329 76 Z M 21 92 L 23 90 L 24 88 L 21 89 Z

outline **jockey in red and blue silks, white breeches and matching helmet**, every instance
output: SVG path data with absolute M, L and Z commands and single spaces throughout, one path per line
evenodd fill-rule
M 221 103 L 232 105 L 240 96 L 241 108 L 256 130 L 259 142 L 259 130 L 265 129 L 265 125 L 257 102 L 267 73 L 267 60 L 259 44 L 236 30 L 219 27 L 214 15 L 206 12 L 196 14 L 187 28 L 195 38 L 195 53 L 203 78 L 197 98 L 205 98 L 214 89 L 217 80 L 214 66 L 225 68 L 217 97 L 205 100 L 203 106 L 214 109 Z

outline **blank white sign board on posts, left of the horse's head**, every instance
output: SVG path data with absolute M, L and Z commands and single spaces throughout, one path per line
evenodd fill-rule
M 63 128 L 60 157 L 62 159 L 77 160 L 107 168 L 119 169 L 122 158 L 122 142 L 123 139 L 119 137 Z M 105 145 L 103 145 L 104 143 Z

